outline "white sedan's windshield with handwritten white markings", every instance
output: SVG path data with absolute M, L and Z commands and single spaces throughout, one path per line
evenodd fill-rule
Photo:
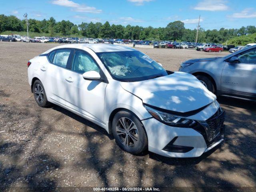
M 168 75 L 157 62 L 139 51 L 97 53 L 112 77 L 119 81 L 143 81 Z

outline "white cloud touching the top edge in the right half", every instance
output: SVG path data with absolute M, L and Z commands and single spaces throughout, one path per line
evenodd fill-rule
M 226 1 L 224 0 L 203 0 L 199 2 L 194 9 L 201 10 L 201 11 L 226 11 L 228 10 L 228 6 L 225 4 Z

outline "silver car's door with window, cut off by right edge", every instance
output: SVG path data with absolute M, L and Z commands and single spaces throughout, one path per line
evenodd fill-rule
M 256 48 L 236 56 L 238 63 L 226 60 L 222 71 L 222 90 L 256 96 Z

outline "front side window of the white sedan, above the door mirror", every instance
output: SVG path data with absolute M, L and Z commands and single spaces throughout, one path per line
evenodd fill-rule
M 83 74 L 88 71 L 100 72 L 100 69 L 91 56 L 85 52 L 76 50 L 72 61 L 72 71 Z

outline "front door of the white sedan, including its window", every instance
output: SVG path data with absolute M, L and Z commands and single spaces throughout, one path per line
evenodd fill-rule
M 71 70 L 66 73 L 66 106 L 103 124 L 106 83 L 98 80 L 85 80 L 84 72 L 100 72 L 94 59 L 82 50 L 75 50 Z

